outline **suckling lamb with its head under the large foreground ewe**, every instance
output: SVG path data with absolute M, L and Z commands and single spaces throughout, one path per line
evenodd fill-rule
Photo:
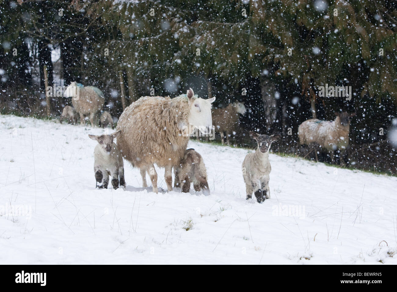
M 210 194 L 207 182 L 207 171 L 201 155 L 195 149 L 187 149 L 179 166 L 174 168 L 175 185 L 182 186 L 182 192 L 189 193 L 190 184 L 193 182 L 195 191 L 203 190 L 206 195 Z

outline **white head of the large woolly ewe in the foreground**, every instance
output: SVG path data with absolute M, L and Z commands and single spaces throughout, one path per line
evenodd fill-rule
M 187 91 L 189 99 L 189 116 L 187 121 L 193 128 L 197 128 L 203 134 L 208 134 L 212 128 L 211 103 L 215 101 L 215 97 L 211 99 L 202 99 L 196 97 L 193 89 Z

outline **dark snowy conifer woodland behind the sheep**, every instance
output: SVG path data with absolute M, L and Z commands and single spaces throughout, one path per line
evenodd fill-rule
M 274 151 L 285 153 L 300 153 L 297 128 L 312 110 L 333 120 L 342 109 L 357 113 L 349 165 L 397 173 L 387 141 L 397 116 L 396 1 L 5 0 L 0 17 L 3 114 L 48 116 L 44 66 L 49 85 L 101 89 L 116 118 L 122 94 L 128 105 L 151 88 L 174 97 L 191 87 L 217 107 L 244 101 L 234 143 L 253 145 L 248 130 L 281 133 Z M 318 97 L 326 83 L 352 86 L 351 101 Z M 52 118 L 71 104 L 50 102 Z

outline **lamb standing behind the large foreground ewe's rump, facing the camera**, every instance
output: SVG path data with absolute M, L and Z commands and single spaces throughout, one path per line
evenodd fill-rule
M 88 135 L 91 139 L 98 141 L 94 149 L 94 172 L 96 187 L 108 188 L 109 175 L 112 177 L 112 186 L 117 189 L 125 187 L 123 157 L 113 139 L 120 135 L 116 131 L 110 135 Z M 99 183 L 99 186 L 98 186 Z

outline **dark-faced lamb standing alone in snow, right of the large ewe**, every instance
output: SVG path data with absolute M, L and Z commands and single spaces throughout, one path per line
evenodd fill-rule
M 270 199 L 269 174 L 272 167 L 269 162 L 269 149 L 274 141 L 280 139 L 280 135 L 259 135 L 252 131 L 249 135 L 256 140 L 258 148 L 254 153 L 248 153 L 242 164 L 246 199 L 251 199 L 253 191 L 258 203 L 262 203 L 265 199 Z

